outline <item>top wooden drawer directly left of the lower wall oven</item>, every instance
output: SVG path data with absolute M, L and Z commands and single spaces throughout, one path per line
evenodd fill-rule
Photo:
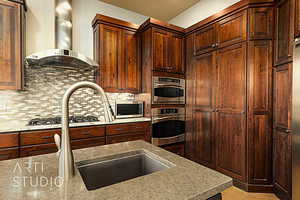
M 149 129 L 149 127 L 149 122 L 109 125 L 107 126 L 107 135 L 145 132 Z

